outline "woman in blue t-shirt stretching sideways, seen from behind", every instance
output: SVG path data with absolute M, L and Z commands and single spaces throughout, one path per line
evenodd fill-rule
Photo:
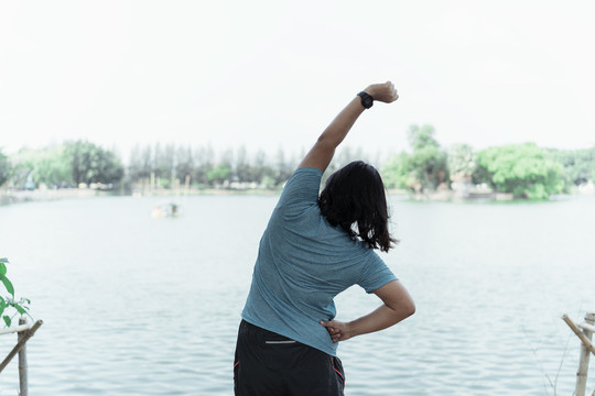
M 382 260 L 388 231 L 385 187 L 363 162 L 322 174 L 335 148 L 374 100 L 398 99 L 393 85 L 370 85 L 333 120 L 289 179 L 262 235 L 238 332 L 236 395 L 343 395 L 337 342 L 386 329 L 414 304 Z M 358 284 L 382 305 L 354 321 L 334 320 L 333 298 Z

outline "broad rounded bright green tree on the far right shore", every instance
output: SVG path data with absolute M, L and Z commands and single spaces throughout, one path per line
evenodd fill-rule
M 563 190 L 562 166 L 534 143 L 490 147 L 477 154 L 476 183 L 517 198 L 545 199 Z

